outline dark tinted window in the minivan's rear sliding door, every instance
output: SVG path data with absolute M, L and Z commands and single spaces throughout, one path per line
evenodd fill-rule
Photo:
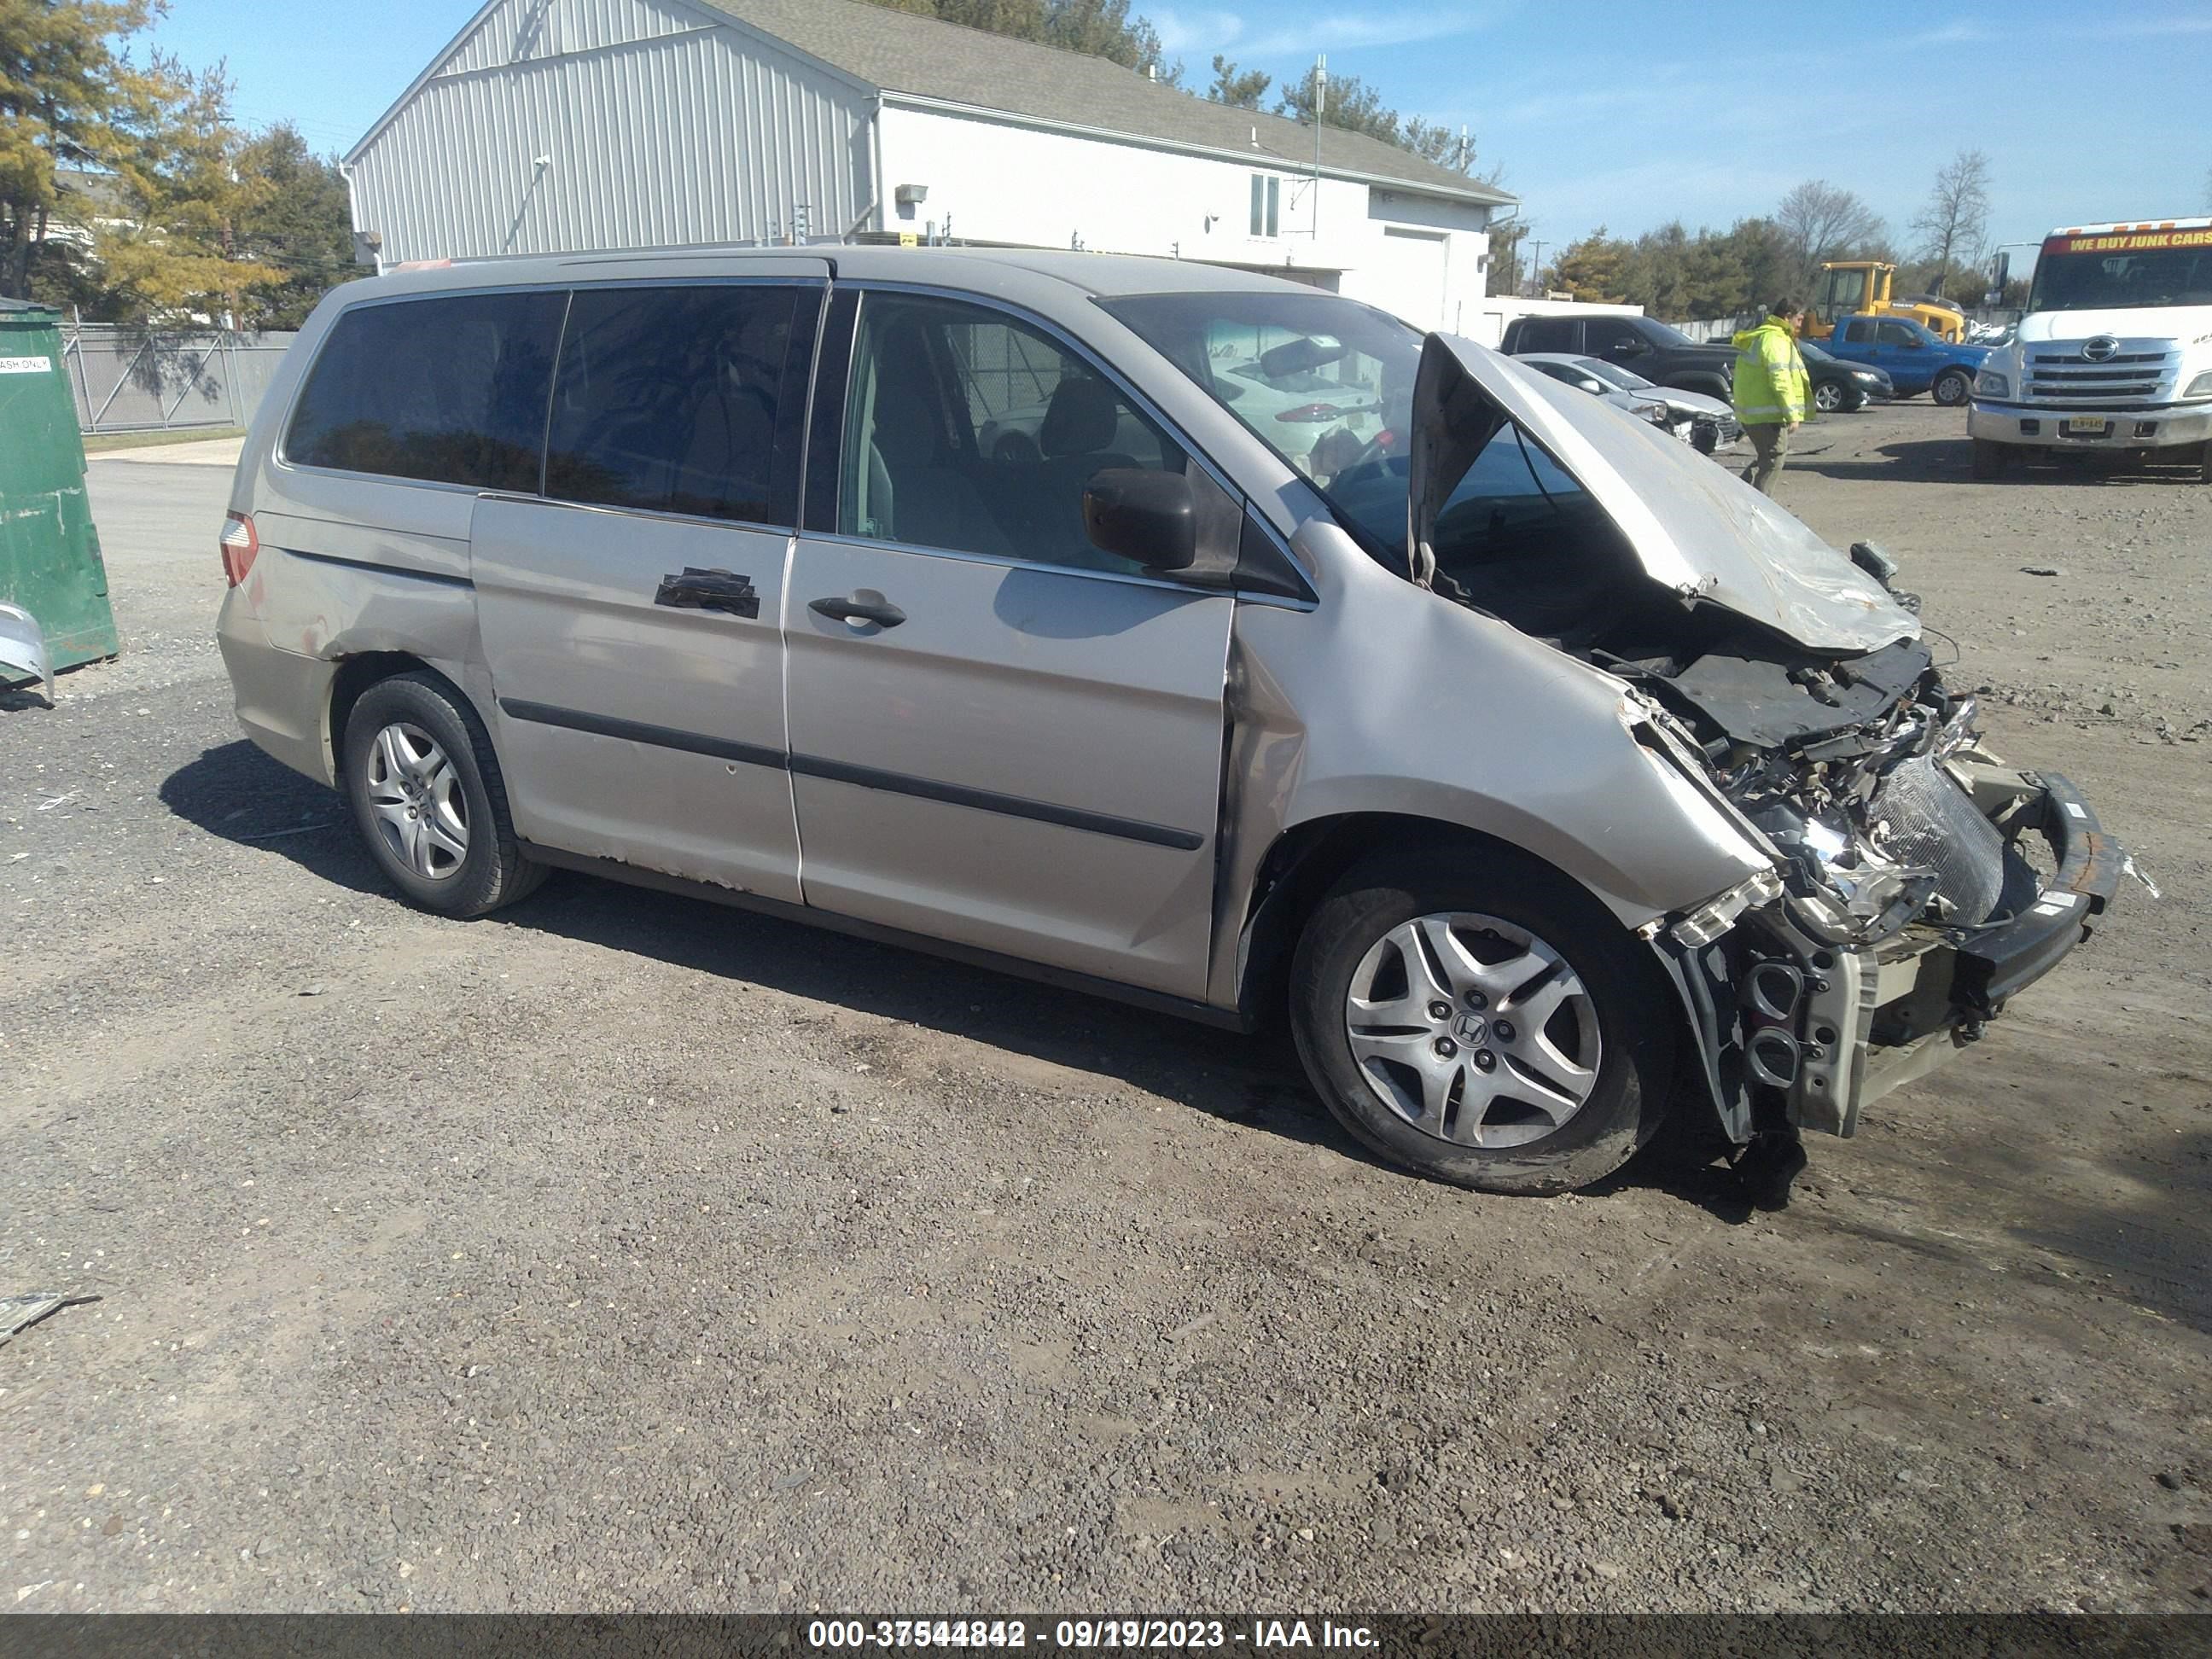
M 580 288 L 553 383 L 546 495 L 794 524 L 801 292 Z

